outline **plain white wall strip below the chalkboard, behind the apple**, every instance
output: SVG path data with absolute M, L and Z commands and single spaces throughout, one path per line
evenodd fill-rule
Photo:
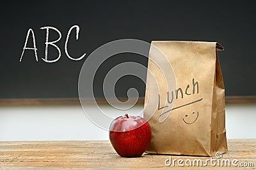
M 142 108 L 135 106 L 132 113 L 140 113 Z M 256 104 L 227 104 L 227 137 L 256 138 L 255 120 Z M 0 141 L 91 139 L 106 140 L 108 131 L 90 122 L 81 106 L 0 107 Z

